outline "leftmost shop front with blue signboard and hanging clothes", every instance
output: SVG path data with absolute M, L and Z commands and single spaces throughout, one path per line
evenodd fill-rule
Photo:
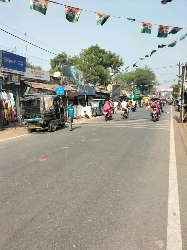
M 0 70 L 3 120 L 4 124 L 9 124 L 15 122 L 20 114 L 20 85 L 26 70 L 26 58 L 1 50 Z

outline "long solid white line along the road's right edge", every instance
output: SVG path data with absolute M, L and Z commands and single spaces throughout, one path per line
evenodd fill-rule
M 167 250 L 182 250 L 175 138 L 171 107 Z

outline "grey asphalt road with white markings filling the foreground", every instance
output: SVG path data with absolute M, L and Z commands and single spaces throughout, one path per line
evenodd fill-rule
M 0 142 L 0 249 L 187 249 L 187 157 L 164 111 Z

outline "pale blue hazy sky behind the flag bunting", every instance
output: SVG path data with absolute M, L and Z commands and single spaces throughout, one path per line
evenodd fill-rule
M 62 51 L 68 55 L 78 55 L 82 49 L 98 44 L 101 48 L 110 50 L 123 58 L 124 66 L 132 66 L 139 58 L 150 55 L 152 50 L 158 50 L 151 58 L 137 63 L 138 67 L 147 65 L 156 74 L 161 88 L 169 88 L 177 83 L 179 67 L 177 64 L 187 62 L 187 38 L 180 37 L 187 33 L 186 0 L 172 0 L 166 5 L 161 0 L 56 0 L 64 5 L 83 9 L 79 21 L 70 23 L 65 18 L 64 6 L 50 3 L 47 14 L 30 10 L 30 0 L 11 0 L 0 2 L 0 28 L 16 36 L 34 43 L 50 52 L 59 54 Z M 86 11 L 89 10 L 89 11 Z M 111 15 L 103 25 L 96 24 L 95 14 Z M 117 17 L 136 19 L 135 22 Z M 151 34 L 140 32 L 140 22 L 152 23 Z M 168 25 L 183 28 L 177 34 L 167 38 L 158 38 L 158 25 Z M 8 27 L 7 27 L 8 26 Z M 158 49 L 158 45 L 170 44 L 178 39 L 173 48 Z M 0 49 L 11 51 L 16 47 L 16 54 L 25 55 L 26 45 L 0 30 Z M 40 65 L 44 70 L 50 69 L 50 59 L 55 55 L 27 45 L 28 59 L 34 65 Z M 172 67 L 171 67 L 172 66 Z M 129 71 L 133 70 L 129 68 Z M 166 82 L 170 81 L 170 82 Z

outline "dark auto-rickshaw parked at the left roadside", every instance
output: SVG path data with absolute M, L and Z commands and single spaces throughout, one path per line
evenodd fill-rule
M 21 115 L 28 132 L 47 128 L 54 132 L 65 126 L 65 111 L 61 96 L 33 94 L 21 100 Z

